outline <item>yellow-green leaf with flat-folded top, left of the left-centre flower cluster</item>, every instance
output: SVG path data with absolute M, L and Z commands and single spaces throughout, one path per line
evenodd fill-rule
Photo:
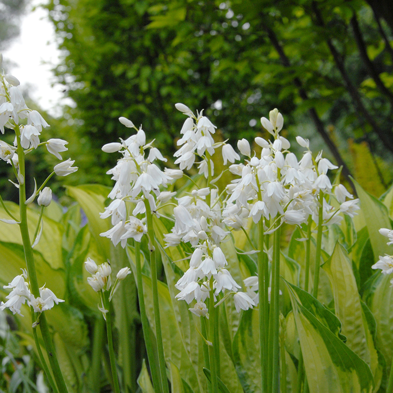
M 78 187 L 67 186 L 68 195 L 73 197 L 82 207 L 90 231 L 105 260 L 111 257 L 111 241 L 100 236 L 100 233 L 109 230 L 112 226 L 111 220 L 100 218 L 100 213 L 104 212 L 105 200 L 108 198 L 110 191 L 109 187 L 98 184 L 87 184 Z

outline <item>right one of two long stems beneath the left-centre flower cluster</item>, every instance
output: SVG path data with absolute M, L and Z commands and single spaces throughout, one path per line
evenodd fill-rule
M 153 215 L 151 214 L 150 204 L 147 199 L 144 200 L 144 204 L 146 206 L 147 234 L 149 237 L 151 287 L 153 293 L 154 321 L 156 324 L 158 363 L 160 369 L 162 390 L 164 393 L 169 393 L 167 371 L 166 371 L 167 366 L 165 364 L 164 344 L 163 344 L 163 336 L 161 331 L 160 306 L 158 302 L 158 278 L 157 278 L 157 261 L 156 261 L 156 249 L 155 249 L 156 242 L 154 239 Z

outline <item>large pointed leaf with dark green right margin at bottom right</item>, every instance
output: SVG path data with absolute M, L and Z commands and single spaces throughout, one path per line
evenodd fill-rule
M 291 295 L 309 391 L 369 393 L 369 366 Z

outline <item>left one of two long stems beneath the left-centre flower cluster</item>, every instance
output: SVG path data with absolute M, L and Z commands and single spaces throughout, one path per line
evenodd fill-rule
M 147 359 L 149 360 L 154 392 L 160 393 L 161 383 L 160 383 L 160 378 L 158 376 L 157 365 L 154 359 L 153 343 L 151 342 L 151 338 L 150 338 L 150 326 L 146 315 L 146 307 L 144 304 L 142 267 L 140 263 L 140 243 L 135 241 L 134 244 L 135 244 L 135 264 L 137 265 L 137 288 L 138 288 L 140 320 L 142 322 L 143 337 L 146 345 Z

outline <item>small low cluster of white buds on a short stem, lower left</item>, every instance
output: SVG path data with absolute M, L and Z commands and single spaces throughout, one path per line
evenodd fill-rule
M 131 274 L 131 270 L 128 267 L 120 269 L 116 275 L 116 280 L 112 285 L 112 268 L 109 261 L 97 265 L 93 259 L 87 258 L 87 261 L 84 262 L 84 268 L 91 274 L 91 277 L 87 278 L 88 284 L 95 292 L 99 292 L 100 294 L 101 306 L 98 305 L 98 309 L 103 313 L 105 318 L 105 314 L 108 312 L 108 309 L 106 309 L 104 304 L 104 298 L 102 296 L 103 292 L 110 292 L 109 301 L 111 301 L 120 281 L 123 281 L 129 274 Z

